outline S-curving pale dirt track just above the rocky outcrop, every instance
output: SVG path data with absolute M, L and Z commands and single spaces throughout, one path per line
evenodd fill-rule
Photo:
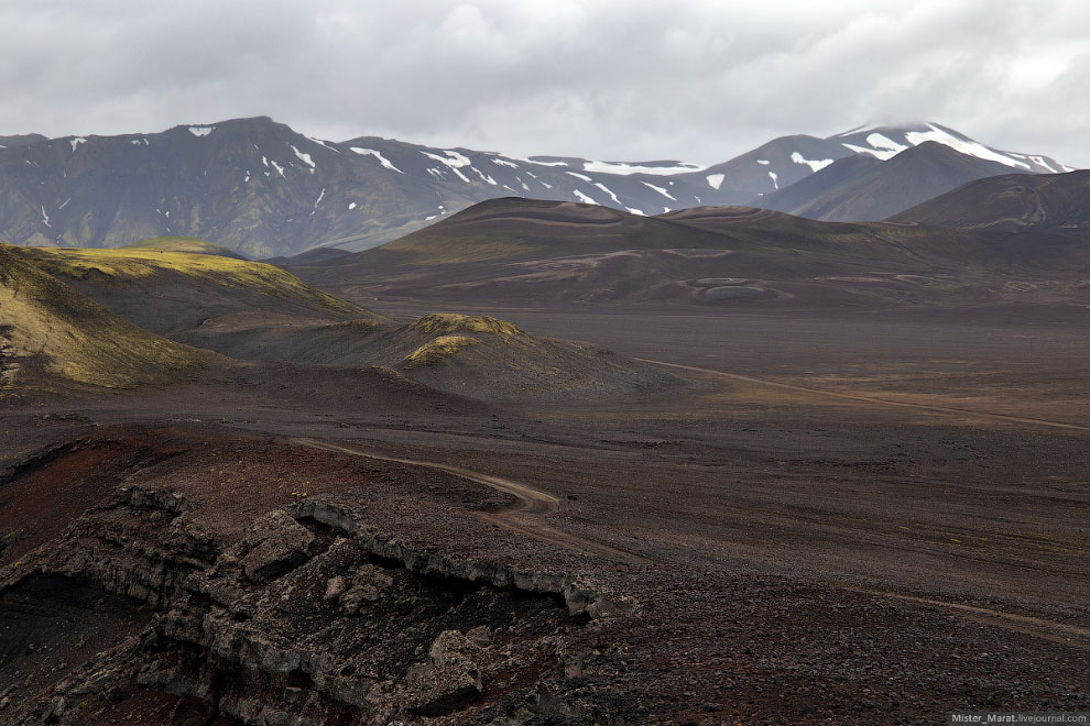
M 491 525 L 500 527 L 501 529 L 517 532 L 542 542 L 555 544 L 556 547 L 564 547 L 578 552 L 604 554 L 607 557 L 620 559 L 633 564 L 648 564 L 651 562 L 651 560 L 640 557 L 639 554 L 625 552 L 624 550 L 610 547 L 609 544 L 602 544 L 601 542 L 596 542 L 577 535 L 570 535 L 557 529 L 556 527 L 547 525 L 544 521 L 541 521 L 538 517 L 552 514 L 559 509 L 560 501 L 547 492 L 542 492 L 541 490 L 536 490 L 526 484 L 522 484 L 510 479 L 504 479 L 502 476 L 482 474 L 480 472 L 462 469 L 461 466 L 454 466 L 451 464 L 443 464 L 434 461 L 419 461 L 417 459 L 401 459 L 374 451 L 359 451 L 357 449 L 349 449 L 348 447 L 342 447 L 337 443 L 329 443 L 327 441 L 319 441 L 317 439 L 296 438 L 292 439 L 292 441 L 305 447 L 325 449 L 326 451 L 337 451 L 339 453 L 347 453 L 353 457 L 364 457 L 367 459 L 378 459 L 380 461 L 392 461 L 399 464 L 407 464 L 410 466 L 423 466 L 425 469 L 453 474 L 477 484 L 482 484 L 495 490 L 497 492 L 503 492 L 514 496 L 515 504 L 514 506 L 502 512 L 470 513 L 480 521 L 487 521 Z M 527 517 L 525 515 L 534 516 Z

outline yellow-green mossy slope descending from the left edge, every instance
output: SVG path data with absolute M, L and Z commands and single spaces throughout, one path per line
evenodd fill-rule
M 13 250 L 0 245 L 0 386 L 165 384 L 215 358 L 117 317 Z

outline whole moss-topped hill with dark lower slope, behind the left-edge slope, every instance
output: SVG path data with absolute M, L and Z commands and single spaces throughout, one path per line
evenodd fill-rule
M 154 248 L 15 248 L 13 254 L 161 334 L 238 314 L 342 320 L 381 316 L 260 262 Z

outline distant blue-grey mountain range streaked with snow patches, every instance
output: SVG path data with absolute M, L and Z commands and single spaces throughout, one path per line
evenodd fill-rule
M 260 117 L 150 134 L 0 136 L 0 242 L 111 248 L 188 234 L 250 257 L 360 251 L 512 195 L 645 216 L 745 204 L 881 219 L 977 178 L 1067 170 L 935 123 L 783 136 L 702 167 L 330 142 Z

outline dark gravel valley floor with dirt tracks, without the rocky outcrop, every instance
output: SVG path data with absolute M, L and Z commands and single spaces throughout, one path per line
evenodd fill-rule
M 563 572 L 625 603 L 565 626 L 589 628 L 585 650 L 557 656 L 551 678 L 556 698 L 582 711 L 541 706 L 539 722 L 519 722 L 501 698 L 514 686 L 486 688 L 471 713 L 429 724 L 580 723 L 578 713 L 937 724 L 953 711 L 1090 711 L 1090 324 L 1077 314 L 458 311 L 600 343 L 686 385 L 611 405 L 429 406 L 357 398 L 335 375 L 231 364 L 176 388 L 9 402 L 0 465 L 148 431 L 176 449 L 199 442 L 216 461 L 224 448 L 239 481 L 273 457 L 307 472 L 366 464 L 374 483 L 312 496 L 352 498 L 424 550 Z M 205 475 L 186 457 L 155 466 L 152 481 Z M 396 496 L 374 474 L 388 470 Z M 32 474 L 0 484 L 0 531 L 33 529 L 13 519 L 36 516 L 33 491 L 19 488 Z M 81 476 L 66 496 L 95 472 Z M 455 480 L 472 494 L 450 494 Z M 63 531 L 40 529 L 13 538 L 0 562 Z M 14 686 L 12 698 L 56 678 L 11 645 L 28 637 L 46 636 L 0 634 L 0 692 Z M 55 637 L 63 649 L 68 636 Z M 153 692 L 181 697 L 146 688 L 149 704 Z M 126 703 L 64 723 L 111 723 Z

